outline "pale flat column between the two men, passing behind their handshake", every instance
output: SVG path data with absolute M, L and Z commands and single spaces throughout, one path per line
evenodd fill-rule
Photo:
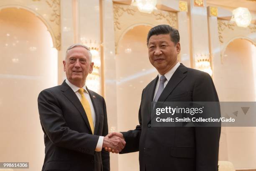
M 115 33 L 112 0 L 102 0 L 102 32 L 105 77 L 105 100 L 109 131 L 118 131 L 115 71 Z M 118 171 L 118 155 L 110 153 L 111 171 Z

